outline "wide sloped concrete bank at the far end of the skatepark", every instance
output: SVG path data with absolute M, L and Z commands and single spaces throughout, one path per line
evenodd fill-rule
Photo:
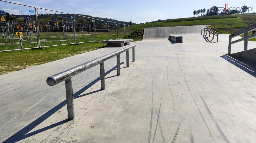
M 201 34 L 206 25 L 145 28 L 143 40 L 168 39 L 171 35 Z

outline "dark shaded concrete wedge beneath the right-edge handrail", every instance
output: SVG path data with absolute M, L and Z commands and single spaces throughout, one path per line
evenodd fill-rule
M 231 57 L 237 57 L 246 61 L 256 63 L 256 48 L 230 54 Z

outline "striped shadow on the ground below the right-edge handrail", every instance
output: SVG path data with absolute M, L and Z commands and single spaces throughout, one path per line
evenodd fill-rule
M 236 57 L 231 57 L 228 55 L 223 55 L 221 58 L 227 60 L 231 64 L 235 65 L 236 67 L 239 67 L 241 70 L 245 71 L 246 73 L 249 73 L 250 75 L 256 77 L 256 64 L 251 63 L 249 61 L 245 61 L 243 59 L 239 59 Z

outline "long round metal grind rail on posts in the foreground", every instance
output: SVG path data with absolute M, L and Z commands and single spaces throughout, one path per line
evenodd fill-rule
M 113 53 L 108 55 L 99 57 L 92 61 L 88 61 L 84 64 L 78 65 L 76 67 L 70 68 L 63 72 L 57 73 L 53 76 L 47 78 L 46 82 L 50 86 L 54 86 L 59 84 L 60 82 L 65 81 L 66 86 L 66 97 L 67 97 L 67 108 L 68 108 L 68 119 L 73 120 L 75 119 L 75 110 L 74 110 L 74 95 L 73 95 L 73 87 L 72 87 L 72 77 L 82 73 L 85 70 L 90 69 L 96 65 L 100 65 L 100 83 L 101 83 L 101 90 L 105 89 L 105 67 L 104 61 L 107 61 L 113 57 L 117 57 L 117 75 L 120 75 L 120 54 L 126 51 L 126 67 L 129 67 L 129 50 L 133 49 L 133 61 L 135 61 L 135 44 L 132 44 L 128 47 L 125 47 L 121 50 L 117 50 Z

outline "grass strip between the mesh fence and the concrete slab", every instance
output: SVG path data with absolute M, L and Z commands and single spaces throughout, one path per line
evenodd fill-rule
M 47 47 L 44 50 L 0 52 L 0 74 L 22 70 L 103 47 L 106 47 L 106 44 L 99 42 Z

